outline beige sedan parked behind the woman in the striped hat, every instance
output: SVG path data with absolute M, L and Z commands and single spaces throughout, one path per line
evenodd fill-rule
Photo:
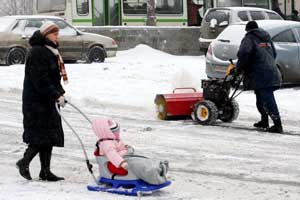
M 5 16 L 0 17 L 0 63 L 24 63 L 30 47 L 28 40 L 45 21 L 59 26 L 59 50 L 67 62 L 104 62 L 106 57 L 116 55 L 118 46 L 112 38 L 81 32 L 60 17 Z

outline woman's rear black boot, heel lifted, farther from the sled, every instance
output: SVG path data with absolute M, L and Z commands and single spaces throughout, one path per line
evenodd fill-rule
M 39 150 L 37 148 L 29 145 L 25 150 L 24 157 L 16 163 L 16 167 L 19 169 L 20 175 L 27 180 L 32 179 L 29 172 L 29 164 L 38 152 Z

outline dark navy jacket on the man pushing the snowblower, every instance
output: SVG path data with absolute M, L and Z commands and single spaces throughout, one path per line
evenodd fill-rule
M 276 50 L 270 35 L 263 29 L 249 31 L 238 51 L 237 71 L 244 72 L 245 90 L 279 88 L 281 74 L 275 63 Z

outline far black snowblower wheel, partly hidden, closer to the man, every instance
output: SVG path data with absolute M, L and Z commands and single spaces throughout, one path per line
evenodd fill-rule
M 239 116 L 239 104 L 236 100 L 232 99 L 228 105 L 228 107 L 224 109 L 224 112 L 221 116 L 219 116 L 220 120 L 223 122 L 233 122 Z

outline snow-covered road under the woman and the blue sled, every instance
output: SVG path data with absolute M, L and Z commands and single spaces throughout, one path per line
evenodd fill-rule
M 79 143 L 66 126 L 66 147 L 56 148 L 53 159 L 54 171 L 63 174 L 66 181 L 57 184 L 27 182 L 20 178 L 14 164 L 25 148 L 20 139 L 21 93 L 18 90 L 0 91 L 0 96 L 5 97 L 0 100 L 0 139 L 3 141 L 0 146 L 0 170 L 3 173 L 0 179 L 0 199 L 130 199 L 85 190 L 86 184 L 92 180 L 85 169 Z M 103 115 L 114 117 L 125 128 L 122 135 L 124 140 L 138 151 L 146 152 L 150 157 L 169 159 L 172 186 L 147 199 L 300 197 L 299 136 L 203 127 L 193 125 L 191 121 L 145 120 L 142 117 L 143 110 L 139 110 L 139 116 L 133 117 L 132 108 L 99 109 L 92 112 L 95 107 L 97 105 L 85 106 L 84 111 L 92 119 Z M 71 108 L 66 108 L 64 113 L 81 135 L 87 151 L 93 152 L 95 137 L 89 124 Z M 122 118 L 116 117 L 120 114 Z M 234 124 L 245 123 L 249 122 L 241 114 Z M 36 177 L 38 159 L 34 160 L 31 169 Z

